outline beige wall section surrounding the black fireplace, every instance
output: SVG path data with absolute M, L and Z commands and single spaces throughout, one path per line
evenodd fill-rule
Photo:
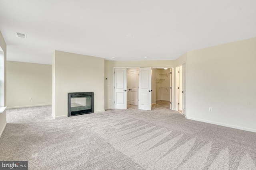
M 94 92 L 94 113 L 104 111 L 104 59 L 55 51 L 52 116 L 67 117 L 68 92 Z

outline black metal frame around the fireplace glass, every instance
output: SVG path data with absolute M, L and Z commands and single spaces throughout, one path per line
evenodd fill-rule
M 80 110 L 80 111 L 71 111 L 71 98 L 73 97 L 91 97 L 91 109 Z M 68 116 L 82 115 L 94 113 L 94 92 L 72 92 L 68 93 Z

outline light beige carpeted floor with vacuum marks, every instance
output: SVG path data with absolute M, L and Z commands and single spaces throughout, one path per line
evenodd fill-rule
M 112 109 L 64 119 L 51 106 L 7 110 L 0 160 L 31 170 L 255 170 L 256 133 L 152 111 Z

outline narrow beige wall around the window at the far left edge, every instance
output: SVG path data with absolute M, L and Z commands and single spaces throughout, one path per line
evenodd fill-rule
M 3 103 L 3 106 L 0 106 L 0 107 L 4 107 L 4 106 L 6 106 L 6 43 L 4 41 L 4 37 L 2 36 L 1 31 L 0 31 L 0 47 L 4 51 L 4 57 L 3 57 L 4 72 L 1 73 L 4 76 L 4 87 L 3 88 L 1 87 L 1 90 L 4 90 L 4 93 L 1 93 L 1 94 L 4 94 L 4 95 L 0 96 L 2 98 L 1 100 L 4 100 L 4 102 L 1 102 L 1 103 Z M 1 137 L 2 133 L 4 132 L 5 126 L 6 126 L 6 110 L 4 110 L 0 114 L 0 137 Z

